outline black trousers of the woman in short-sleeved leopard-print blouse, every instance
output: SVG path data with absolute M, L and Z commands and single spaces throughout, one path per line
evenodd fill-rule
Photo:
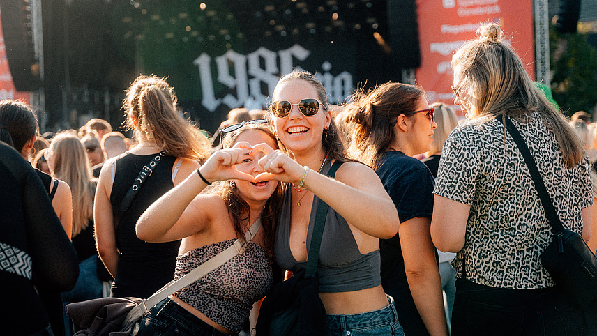
M 557 287 L 503 289 L 456 280 L 452 335 L 589 335 Z M 585 330 L 587 331 L 587 330 Z

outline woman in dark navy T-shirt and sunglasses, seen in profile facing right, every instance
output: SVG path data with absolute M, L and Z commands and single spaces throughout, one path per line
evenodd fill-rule
M 433 109 L 417 86 L 386 83 L 357 91 L 347 107 L 349 153 L 381 178 L 400 216 L 400 229 L 382 239 L 381 280 L 396 302 L 406 335 L 447 335 L 441 280 L 431 241 L 434 179 L 413 155 L 430 150 Z

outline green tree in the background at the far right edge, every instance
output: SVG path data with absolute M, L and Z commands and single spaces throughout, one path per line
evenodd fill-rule
M 597 105 L 597 49 L 580 33 L 559 33 L 550 26 L 552 93 L 560 109 L 570 116 L 593 112 Z

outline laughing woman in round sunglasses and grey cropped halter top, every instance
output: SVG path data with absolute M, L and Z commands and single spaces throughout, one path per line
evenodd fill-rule
M 283 149 L 253 151 L 268 154 L 259 160 L 267 173 L 258 180 L 288 183 L 275 234 L 278 265 L 294 272 L 305 268 L 310 227 L 320 199 L 325 201 L 330 209 L 317 273 L 331 333 L 402 335 L 379 276 L 379 238 L 393 237 L 399 225 L 391 199 L 372 169 L 345 156 L 326 108 L 326 91 L 315 76 L 285 75 L 273 100 L 271 117 Z M 324 174 L 335 161 L 345 163 L 333 180 Z

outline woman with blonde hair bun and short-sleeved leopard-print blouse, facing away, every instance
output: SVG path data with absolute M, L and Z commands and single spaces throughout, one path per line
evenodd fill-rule
M 431 234 L 456 252 L 452 335 L 596 335 L 597 303 L 581 309 L 539 261 L 551 226 L 513 138 L 527 143 L 566 229 L 591 236 L 590 165 L 580 139 L 536 88 L 498 24 L 452 57 L 454 103 L 469 121 L 441 152 Z

